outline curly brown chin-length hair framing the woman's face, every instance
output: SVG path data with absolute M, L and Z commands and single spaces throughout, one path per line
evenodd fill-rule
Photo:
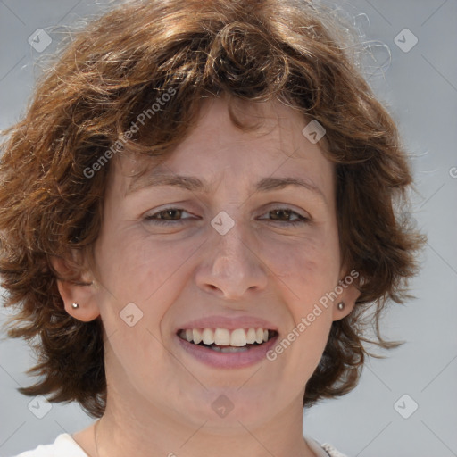
M 362 343 L 397 345 L 381 337 L 378 320 L 386 303 L 409 296 L 424 237 L 395 212 L 411 185 L 407 155 L 342 30 L 331 12 L 304 0 L 148 0 L 123 4 L 75 34 L 1 145 L 0 275 L 4 305 L 17 310 L 8 336 L 33 345 L 38 361 L 29 373 L 42 377 L 22 394 L 52 394 L 51 401 L 103 415 L 103 323 L 65 312 L 57 279 L 78 281 L 82 265 L 72 253 L 94 254 L 114 160 L 101 159 L 122 149 L 166 157 L 195 126 L 202 96 L 278 100 L 303 113 L 303 126 L 318 120 L 327 132 L 341 255 L 360 274 L 360 296 L 333 322 L 303 405 L 356 386 L 365 355 L 373 355 Z M 120 145 L 147 110 L 145 127 Z M 230 116 L 240 129 L 253 128 Z M 72 262 L 68 276 L 54 270 L 53 257 Z M 369 308 L 372 340 L 362 331 Z

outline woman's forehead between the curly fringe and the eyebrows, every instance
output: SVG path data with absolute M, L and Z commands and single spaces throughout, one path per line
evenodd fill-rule
M 162 158 L 133 158 L 124 154 L 116 161 L 116 186 L 129 195 L 157 175 L 179 173 L 205 177 L 216 183 L 221 175 L 242 185 L 254 177 L 307 179 L 316 187 L 331 187 L 334 167 L 302 133 L 309 122 L 303 114 L 279 103 L 237 102 L 233 112 L 245 131 L 230 119 L 224 99 L 207 99 L 201 105 L 195 128 Z M 157 181 L 157 179 L 155 179 Z M 163 182 L 163 181 L 162 181 Z M 208 186 L 201 186 L 208 191 Z M 203 188 L 205 187 L 205 189 Z

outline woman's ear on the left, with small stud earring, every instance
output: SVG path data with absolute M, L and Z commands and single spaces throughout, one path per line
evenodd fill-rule
M 52 257 L 51 263 L 59 277 L 70 277 L 74 274 L 74 267 L 71 268 L 70 262 L 60 257 Z M 92 273 L 85 272 L 79 275 L 75 282 L 57 279 L 57 287 L 62 297 L 65 311 L 72 317 L 83 322 L 95 320 L 100 311 L 96 303 L 96 281 Z M 73 307 L 73 303 L 78 303 L 78 307 Z

